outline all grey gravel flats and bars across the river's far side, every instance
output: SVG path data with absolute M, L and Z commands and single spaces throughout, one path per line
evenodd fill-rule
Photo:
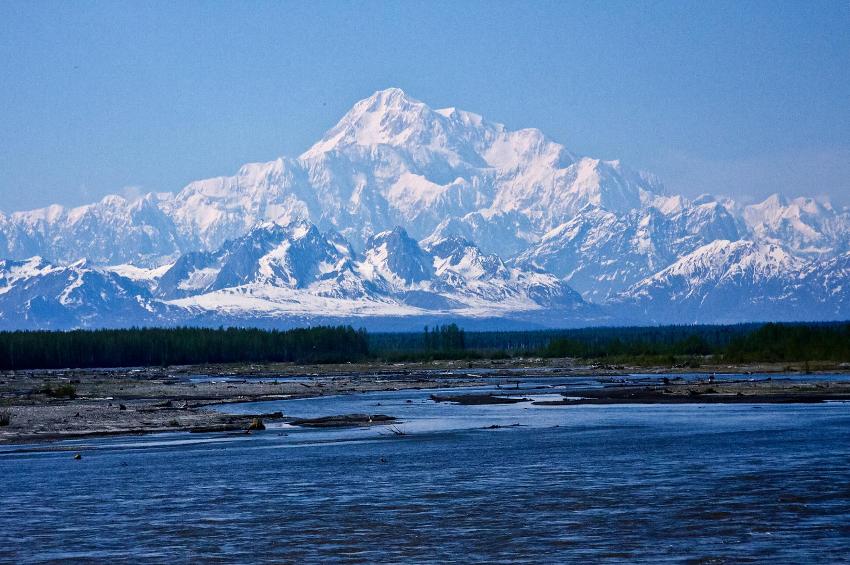
M 772 373 L 779 366 L 713 367 L 715 372 Z M 693 369 L 682 372 L 696 372 Z M 820 402 L 850 400 L 850 383 L 786 383 L 780 379 L 712 384 L 667 378 L 676 369 L 587 366 L 571 360 L 481 360 L 429 363 L 211 365 L 108 370 L 0 373 L 0 443 L 158 432 L 250 432 L 255 420 L 281 421 L 282 413 L 231 415 L 228 403 L 308 398 L 387 390 L 467 387 L 481 377 L 615 377 L 654 373 L 646 386 L 583 391 L 549 405 L 610 403 Z M 708 370 L 703 369 L 708 373 Z M 843 371 L 842 371 L 843 372 Z M 443 395 L 437 401 L 514 402 L 510 395 Z M 321 425 L 322 422 L 312 423 Z M 327 423 L 324 423 L 327 424 Z M 307 423 L 310 425 L 310 423 Z

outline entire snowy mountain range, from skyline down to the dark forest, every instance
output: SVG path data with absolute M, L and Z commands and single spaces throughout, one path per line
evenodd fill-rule
M 848 210 L 689 200 L 399 89 L 298 158 L 0 215 L 0 256 L 4 328 L 850 318 Z

